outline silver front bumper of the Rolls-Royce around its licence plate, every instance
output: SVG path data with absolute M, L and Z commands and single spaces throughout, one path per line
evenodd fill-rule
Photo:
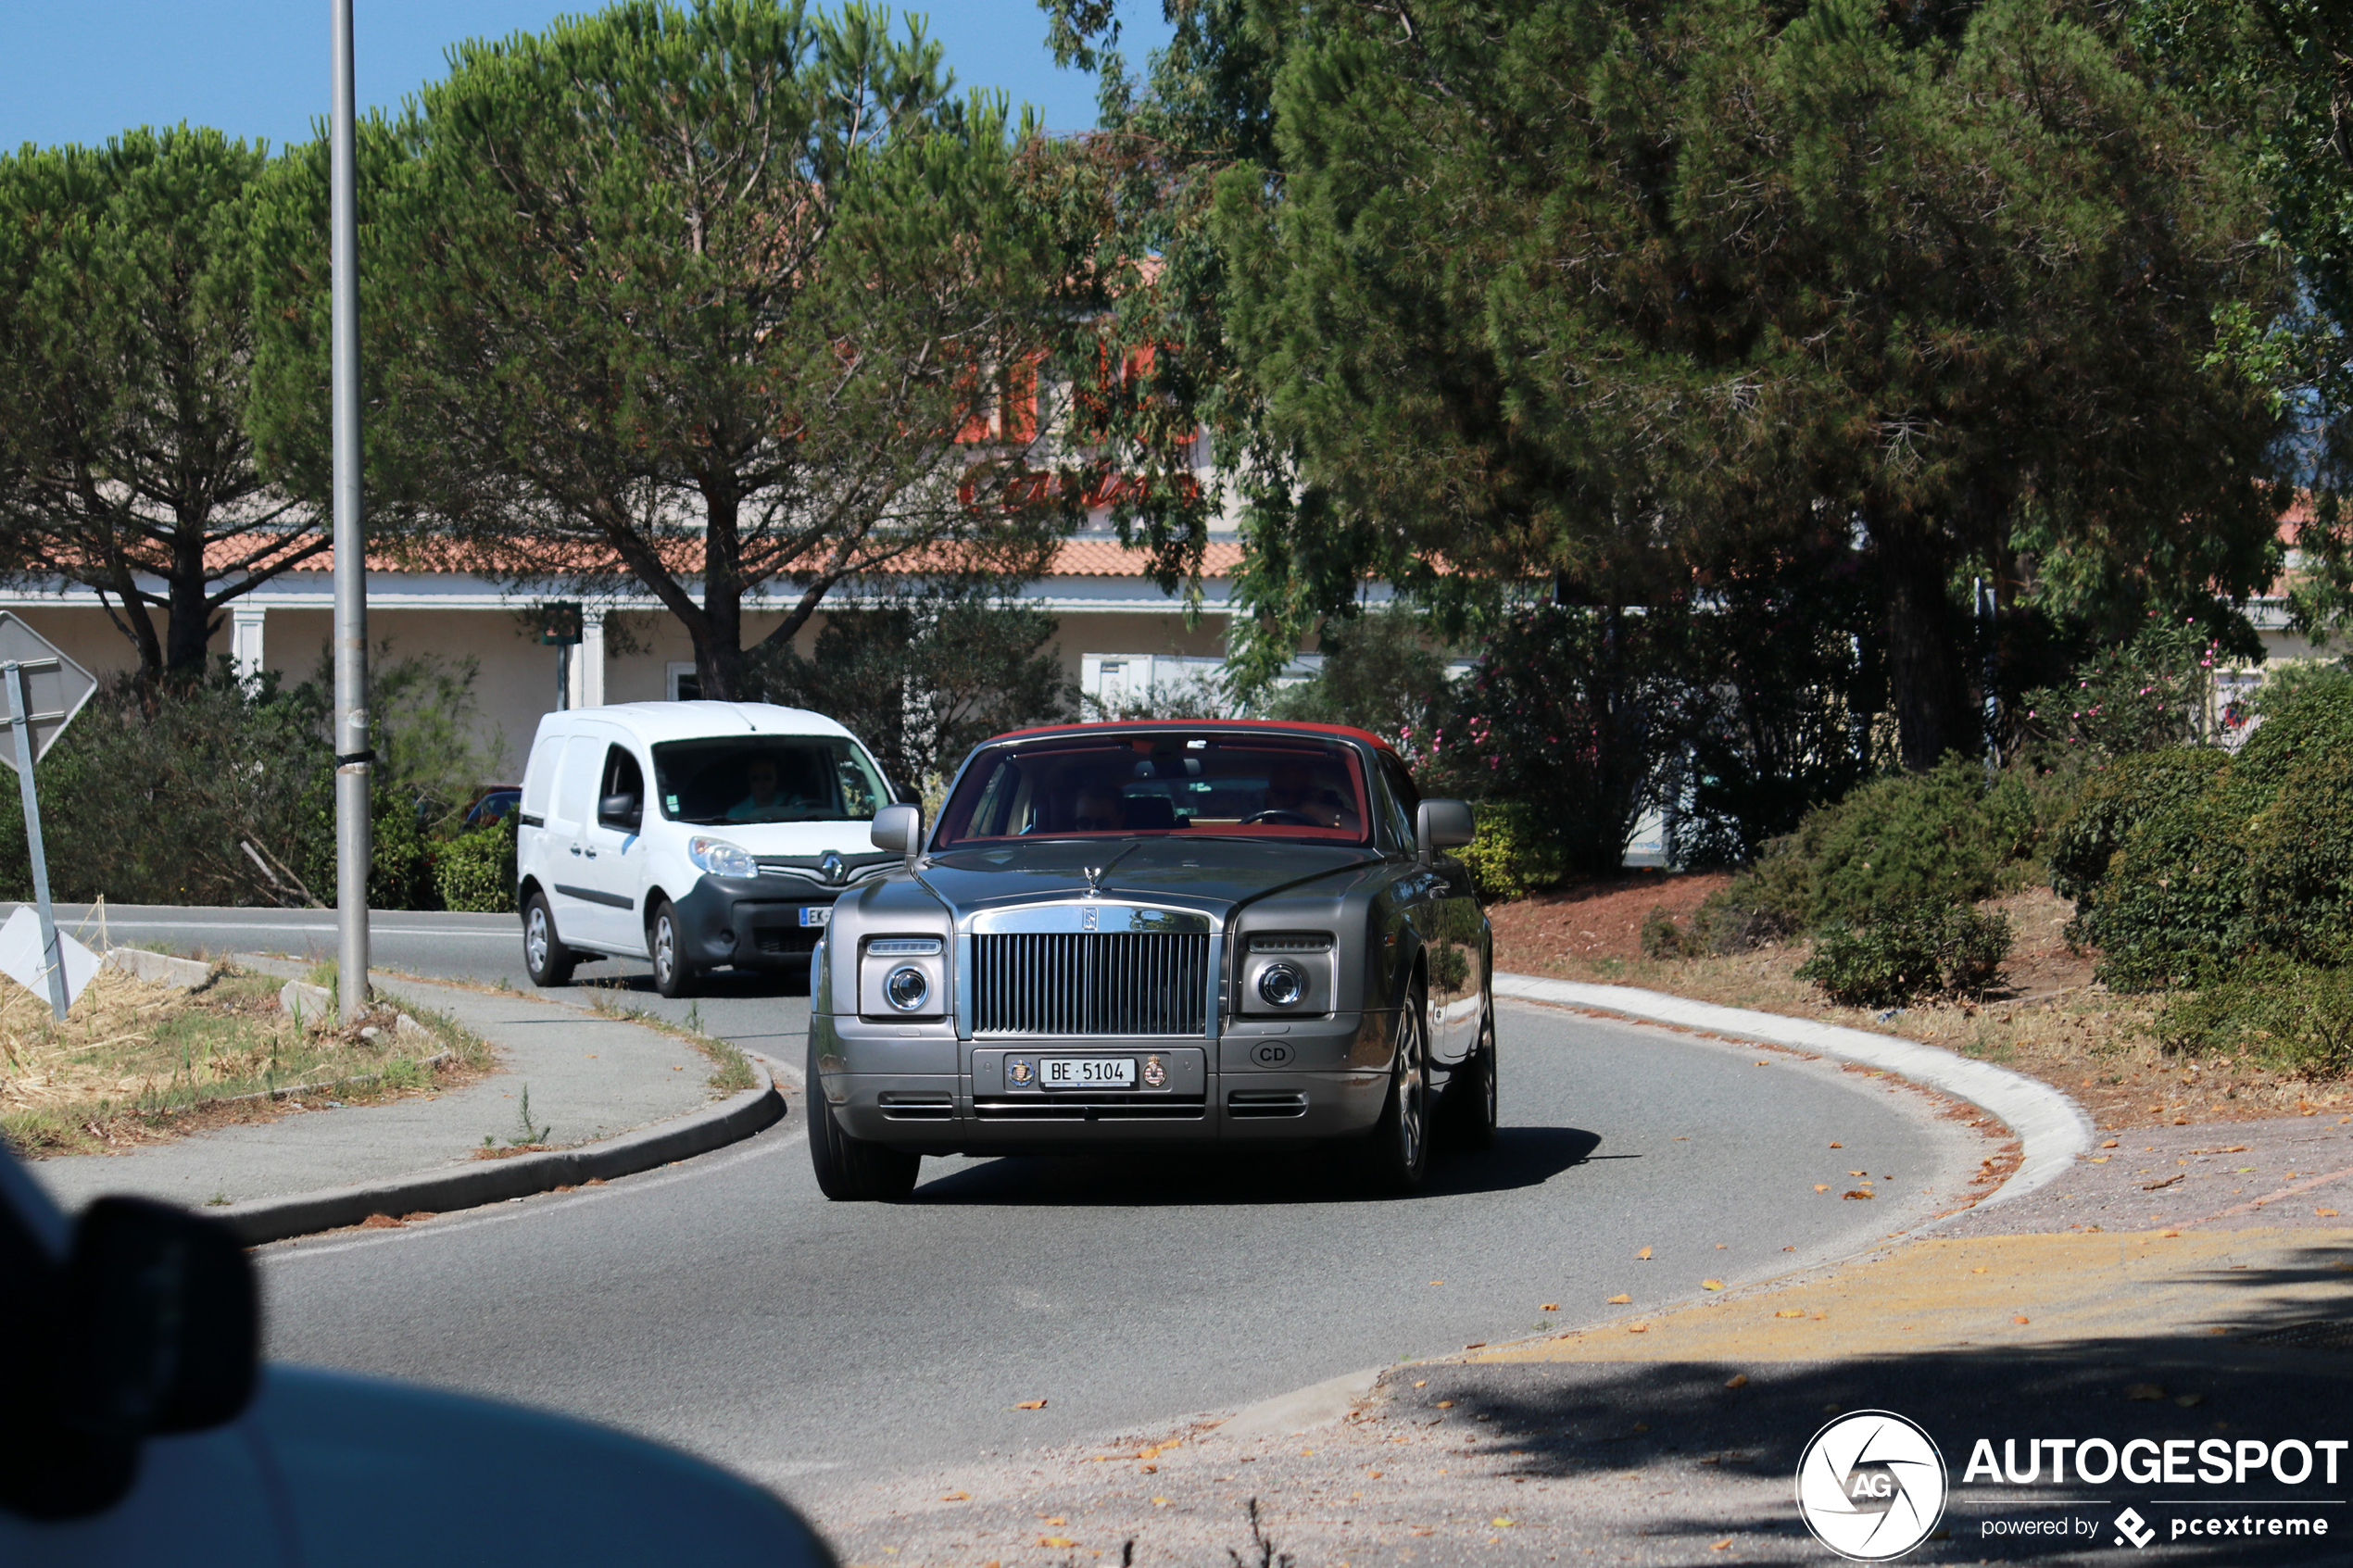
M 814 1093 L 852 1138 L 922 1154 L 1360 1138 L 1388 1103 L 1388 1016 L 1249 1025 L 1221 1039 L 955 1039 L 953 1025 L 816 1016 Z M 1136 1088 L 1019 1088 L 1007 1065 L 1134 1058 Z M 1146 1086 L 1144 1065 L 1162 1081 Z

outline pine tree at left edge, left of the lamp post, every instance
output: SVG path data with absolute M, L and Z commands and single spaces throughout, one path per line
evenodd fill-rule
M 327 548 L 247 435 L 266 167 L 188 127 L 0 158 L 0 567 L 94 590 L 151 682 Z

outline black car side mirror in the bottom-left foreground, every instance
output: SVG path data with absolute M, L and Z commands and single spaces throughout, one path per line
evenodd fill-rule
M 226 1425 L 254 1396 L 254 1274 L 224 1225 L 99 1199 L 73 1229 L 47 1305 L 35 1316 L 47 1316 L 54 1354 L 26 1401 L 40 1427 L 9 1432 L 7 1448 L 21 1453 L 0 1465 L 0 1507 L 28 1519 L 108 1509 L 139 1474 L 139 1443 Z

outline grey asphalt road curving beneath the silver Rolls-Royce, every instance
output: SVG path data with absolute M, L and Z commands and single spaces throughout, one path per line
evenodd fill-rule
M 332 950 L 292 912 L 118 910 L 111 933 Z M 374 954 L 520 985 L 496 917 L 386 914 Z M 800 987 L 722 990 L 704 1027 L 798 1065 Z M 1501 1060 L 1499 1147 L 1405 1201 L 1329 1159 L 1165 1154 L 925 1161 L 908 1204 L 828 1204 L 795 1098 L 642 1178 L 268 1248 L 268 1347 L 607 1420 L 821 1507 L 1849 1255 L 1948 1208 L 1988 1152 L 1828 1063 L 1555 1009 L 1504 1004 Z M 1873 1201 L 1842 1201 L 1854 1171 Z

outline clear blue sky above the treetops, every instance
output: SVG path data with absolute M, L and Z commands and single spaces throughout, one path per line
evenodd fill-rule
M 539 31 L 579 0 L 355 0 L 362 106 L 393 108 L 438 78 L 459 38 Z M 894 7 L 922 9 L 922 7 Z M 1122 0 L 1125 49 L 1165 42 L 1158 0 Z M 1002 87 L 1049 129 L 1094 125 L 1094 80 L 1056 71 L 1035 0 L 948 0 L 929 28 L 965 87 Z M 273 146 L 327 113 L 327 0 L 7 0 L 0 5 L 0 148 L 106 141 L 129 125 L 216 125 Z

